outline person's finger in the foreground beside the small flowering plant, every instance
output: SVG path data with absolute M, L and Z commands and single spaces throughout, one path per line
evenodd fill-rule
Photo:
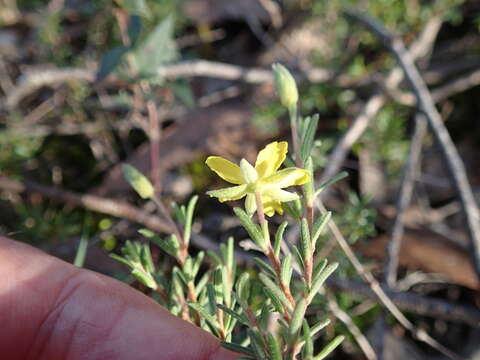
M 0 237 L 0 359 L 237 357 L 127 285 Z

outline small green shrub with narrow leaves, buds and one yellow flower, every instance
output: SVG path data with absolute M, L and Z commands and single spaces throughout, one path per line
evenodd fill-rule
M 189 244 L 198 197 L 187 206 L 174 205 L 174 221 L 150 181 L 129 165 L 124 166 L 127 181 L 142 198 L 156 203 L 172 227 L 166 237 L 147 229 L 140 233 L 175 259 L 176 265 L 168 271 L 158 269 L 149 244 L 139 242 L 127 241 L 123 256 L 112 256 L 152 289 L 170 312 L 211 332 L 243 358 L 320 360 L 344 338 L 334 337 L 315 353 L 317 334 L 329 320 L 307 316 L 308 307 L 337 268 L 336 263 L 316 257 L 318 239 L 331 214 L 315 216 L 313 207 L 315 197 L 332 181 L 315 189 L 311 153 L 318 116 L 298 118 L 295 80 L 282 65 L 273 69 L 281 103 L 290 114 L 293 156 L 287 157 L 287 142 L 275 141 L 259 152 L 255 165 L 246 159 L 236 165 L 218 156 L 206 161 L 218 176 L 234 184 L 208 191 L 209 196 L 221 202 L 245 198 L 244 207 L 233 211 L 260 253 L 253 256 L 257 270 L 237 264 L 233 238 L 220 244 L 220 254 L 193 255 Z M 281 168 L 282 164 L 287 167 Z M 285 190 L 290 187 L 292 191 Z M 284 215 L 284 211 L 293 220 L 274 228 L 267 217 Z M 295 224 L 301 229 L 298 243 L 287 243 L 284 232 Z

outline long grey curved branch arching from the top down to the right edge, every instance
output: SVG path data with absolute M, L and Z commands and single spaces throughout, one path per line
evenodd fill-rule
M 435 107 L 432 95 L 420 76 L 411 54 L 405 49 L 399 37 L 393 36 L 383 25 L 377 23 L 375 20 L 353 12 L 348 12 L 347 16 L 360 22 L 375 33 L 395 55 L 399 65 L 402 67 L 405 77 L 417 98 L 418 106 L 420 110 L 425 113 L 430 129 L 445 159 L 453 180 L 453 185 L 458 192 L 470 238 L 475 269 L 477 275 L 480 275 L 480 223 L 477 221 L 479 210 L 475 203 L 475 197 L 470 187 L 462 159 L 458 154 L 448 130 L 443 124 L 441 116 Z

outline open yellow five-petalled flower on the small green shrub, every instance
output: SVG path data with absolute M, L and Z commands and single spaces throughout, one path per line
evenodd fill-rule
M 268 144 L 258 154 L 255 167 L 245 159 L 242 159 L 238 166 L 222 157 L 209 156 L 206 161 L 208 167 L 223 180 L 237 186 L 212 190 L 207 194 L 221 202 L 239 200 L 246 196 L 245 209 L 252 215 L 257 210 L 255 194 L 258 193 L 266 215 L 272 216 L 275 212 L 283 214 L 281 203 L 296 200 L 299 196 L 282 189 L 310 181 L 309 172 L 306 170 L 295 167 L 278 170 L 287 151 L 286 141 Z

